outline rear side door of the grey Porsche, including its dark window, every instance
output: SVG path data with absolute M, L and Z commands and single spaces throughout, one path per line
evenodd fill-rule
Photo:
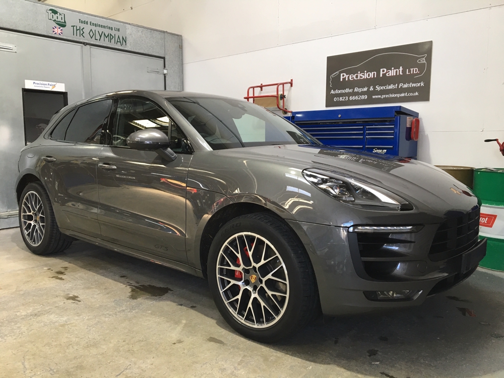
M 101 236 L 96 169 L 113 100 L 73 109 L 56 125 L 52 146 L 42 154 L 40 173 L 53 199 L 59 227 Z

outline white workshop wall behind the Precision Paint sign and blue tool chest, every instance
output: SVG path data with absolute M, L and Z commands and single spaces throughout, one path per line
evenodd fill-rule
M 433 41 L 419 159 L 504 166 L 504 0 L 48 0 L 182 34 L 184 90 L 242 98 L 294 80 L 289 108 L 325 108 L 326 57 Z M 373 105 L 375 106 L 375 105 Z

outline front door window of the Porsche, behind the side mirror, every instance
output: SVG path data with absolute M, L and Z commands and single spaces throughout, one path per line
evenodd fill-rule
M 139 98 L 121 98 L 117 104 L 112 146 L 127 147 L 130 134 L 142 129 L 158 129 L 168 135 L 171 130 L 171 149 L 188 152 L 188 143 L 178 126 L 154 103 Z

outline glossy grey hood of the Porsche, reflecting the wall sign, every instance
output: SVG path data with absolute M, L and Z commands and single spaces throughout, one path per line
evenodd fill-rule
M 280 145 L 213 151 L 220 158 L 267 160 L 297 169 L 318 168 L 360 178 L 384 187 L 417 207 L 435 213 L 467 212 L 477 205 L 470 188 L 448 173 L 414 159 L 377 155 L 330 146 Z M 220 159 L 219 159 L 220 160 Z M 236 161 L 236 160 L 235 160 Z M 426 209 L 425 209 L 426 210 Z

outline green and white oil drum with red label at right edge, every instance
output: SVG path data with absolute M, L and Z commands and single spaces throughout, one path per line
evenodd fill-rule
M 479 265 L 504 271 L 504 168 L 475 169 L 473 189 L 482 202 L 479 235 L 488 239 Z

